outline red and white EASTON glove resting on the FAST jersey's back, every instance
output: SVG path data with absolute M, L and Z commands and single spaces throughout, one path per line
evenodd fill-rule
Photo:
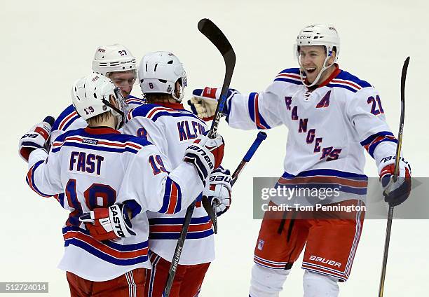
M 95 208 L 79 217 L 96 240 L 115 240 L 135 235 L 132 230 L 128 207 L 112 205 L 108 208 Z

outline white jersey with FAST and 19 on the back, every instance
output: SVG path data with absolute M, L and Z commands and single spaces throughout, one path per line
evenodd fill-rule
M 151 268 L 146 211 L 179 212 L 204 187 L 193 165 L 182 162 L 171 170 L 147 139 L 89 127 L 57 137 L 49 156 L 33 151 L 27 183 L 43 197 L 65 193 L 58 199 L 70 214 L 62 229 L 65 249 L 59 268 L 93 281 Z M 83 212 L 122 202 L 132 209 L 135 236 L 99 242 L 79 221 Z

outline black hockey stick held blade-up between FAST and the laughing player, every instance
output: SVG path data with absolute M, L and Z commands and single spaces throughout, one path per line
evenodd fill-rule
M 206 36 L 207 39 L 209 39 L 214 44 L 214 46 L 216 46 L 216 48 L 222 54 L 222 57 L 224 57 L 225 62 L 225 78 L 224 84 L 222 85 L 221 97 L 219 99 L 219 102 L 217 103 L 216 113 L 214 113 L 212 126 L 210 127 L 210 131 L 207 134 L 207 137 L 214 138 L 216 136 L 217 127 L 219 126 L 219 121 L 222 116 L 222 110 L 224 109 L 224 104 L 226 102 L 226 92 L 229 89 L 229 83 L 231 83 L 234 67 L 236 66 L 236 53 L 234 53 L 231 43 L 229 43 L 228 39 L 226 39 L 222 31 L 216 25 L 214 25 L 211 20 L 200 20 L 198 22 L 198 30 L 200 30 L 200 32 L 204 34 L 204 36 Z M 182 254 L 184 241 L 186 239 L 186 234 L 188 233 L 189 224 L 191 223 L 195 204 L 195 201 L 192 202 L 191 205 L 189 205 L 188 209 L 186 209 L 186 215 L 184 218 L 182 231 L 180 232 L 179 240 L 177 240 L 175 254 L 173 255 L 170 265 L 170 271 L 168 272 L 167 282 L 165 283 L 165 289 L 163 292 L 163 296 L 165 297 L 168 297 L 170 295 L 172 282 L 175 279 L 177 265 L 179 265 L 180 254 Z M 210 212 L 210 210 L 211 209 L 209 208 L 208 212 Z M 212 222 L 213 226 L 215 223 L 217 223 L 216 219 L 214 219 L 214 221 Z

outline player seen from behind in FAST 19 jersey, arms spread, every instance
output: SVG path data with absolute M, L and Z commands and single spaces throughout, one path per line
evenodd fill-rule
M 126 103 L 109 78 L 86 76 L 72 94 L 88 127 L 57 137 L 49 155 L 43 149 L 48 123 L 25 134 L 19 148 L 29 163 L 27 183 L 43 197 L 66 195 L 61 202 L 70 214 L 59 268 L 67 271 L 71 296 L 142 296 L 151 268 L 146 211 L 173 214 L 200 196 L 222 162 L 223 139 L 200 135 L 171 170 L 147 139 L 118 132 Z

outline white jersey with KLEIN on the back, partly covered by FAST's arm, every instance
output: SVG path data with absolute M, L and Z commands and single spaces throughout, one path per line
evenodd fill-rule
M 182 162 L 186 148 L 207 130 L 206 124 L 182 104 L 145 104 L 128 113 L 125 134 L 144 136 L 168 156 L 172 168 Z M 186 209 L 173 215 L 147 212 L 150 224 L 149 248 L 172 261 Z M 194 265 L 214 260 L 212 221 L 200 202 L 193 212 L 191 225 L 179 263 Z

